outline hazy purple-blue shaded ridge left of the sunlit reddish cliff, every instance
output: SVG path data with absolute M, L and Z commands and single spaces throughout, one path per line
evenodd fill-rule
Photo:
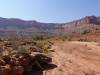
M 54 32 L 58 25 L 55 23 L 40 23 L 37 21 L 25 21 L 21 19 L 0 18 L 1 34 L 48 34 Z M 53 31 L 54 30 L 54 31 Z

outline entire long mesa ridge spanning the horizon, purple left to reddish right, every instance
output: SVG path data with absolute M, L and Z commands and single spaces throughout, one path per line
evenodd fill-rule
M 35 20 L 26 21 L 15 18 L 0 17 L 0 35 L 34 35 L 34 34 L 80 34 L 85 30 L 100 28 L 100 17 L 86 16 L 68 23 L 41 23 Z

